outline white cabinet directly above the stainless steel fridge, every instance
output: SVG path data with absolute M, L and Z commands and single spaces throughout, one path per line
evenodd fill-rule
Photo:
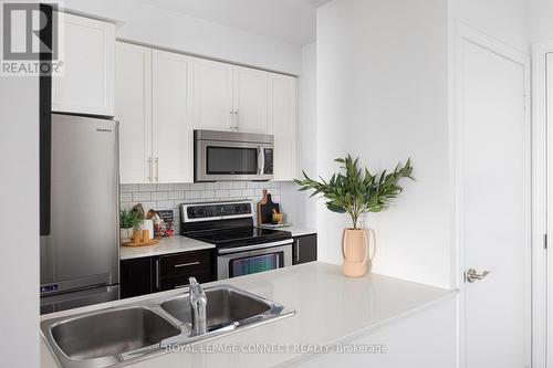
M 52 78 L 52 111 L 114 115 L 115 25 L 60 13 L 60 75 Z

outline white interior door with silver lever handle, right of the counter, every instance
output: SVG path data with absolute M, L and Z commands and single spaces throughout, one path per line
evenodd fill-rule
M 461 360 L 467 368 L 530 367 L 530 123 L 526 59 L 459 41 Z M 518 59 L 518 60 L 517 60 Z

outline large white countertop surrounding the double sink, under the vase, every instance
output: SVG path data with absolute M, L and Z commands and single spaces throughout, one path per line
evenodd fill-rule
M 313 262 L 270 272 L 219 281 L 210 284 L 232 284 L 251 293 L 296 309 L 296 314 L 199 345 L 195 353 L 168 353 L 133 367 L 269 367 L 284 366 L 307 358 L 313 351 L 298 351 L 293 346 L 332 346 L 393 324 L 403 317 L 430 308 L 455 295 L 455 291 L 417 284 L 378 274 L 361 278 L 342 275 L 337 265 Z M 155 294 L 174 296 L 181 291 Z M 73 311 L 44 315 L 41 319 L 71 316 L 76 313 L 119 306 L 147 299 L 139 296 Z M 286 347 L 285 351 L 244 353 L 244 346 L 269 345 Z M 219 347 L 219 348 L 217 348 Z M 220 351 L 220 347 L 237 348 L 238 353 Z M 213 353 L 213 348 L 218 351 Z M 211 349 L 211 350 L 209 350 Z M 41 367 L 55 362 L 44 340 L 41 341 Z

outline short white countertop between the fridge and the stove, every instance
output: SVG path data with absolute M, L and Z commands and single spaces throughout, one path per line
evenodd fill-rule
M 215 245 L 190 238 L 175 235 L 161 239 L 158 244 L 152 246 L 121 246 L 119 259 L 132 260 L 143 256 L 191 252 L 211 248 L 215 248 Z

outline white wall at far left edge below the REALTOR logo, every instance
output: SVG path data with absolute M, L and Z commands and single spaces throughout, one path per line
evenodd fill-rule
M 39 367 L 39 84 L 0 76 L 0 366 Z

